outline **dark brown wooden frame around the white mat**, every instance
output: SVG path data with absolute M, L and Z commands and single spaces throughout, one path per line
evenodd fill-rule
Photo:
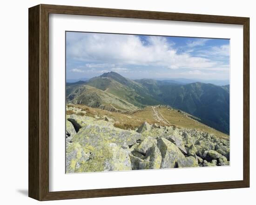
M 49 192 L 49 13 L 243 25 L 243 180 Z M 38 5 L 29 8 L 28 196 L 37 200 L 188 192 L 249 187 L 249 18 L 108 8 Z

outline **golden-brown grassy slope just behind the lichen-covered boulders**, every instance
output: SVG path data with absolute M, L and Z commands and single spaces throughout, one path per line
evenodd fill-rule
M 115 127 L 122 128 L 122 129 L 128 129 L 128 128 L 135 129 L 140 127 L 143 122 L 148 122 L 149 124 L 157 123 L 158 125 L 161 125 L 161 126 L 175 125 L 178 128 L 197 129 L 200 131 L 212 133 L 217 137 L 229 138 L 229 135 L 223 134 L 222 132 L 219 132 L 214 128 L 210 128 L 207 125 L 204 125 L 178 112 L 175 109 L 168 110 L 167 108 L 155 108 L 155 110 L 160 115 L 162 115 L 163 119 L 166 121 L 166 122 L 159 122 L 155 119 L 154 111 L 151 106 L 146 107 L 145 109 L 141 109 L 139 111 L 135 111 L 130 114 L 109 112 L 107 110 L 90 108 L 85 105 L 68 105 L 68 106 L 81 108 L 82 110 L 87 111 L 86 115 L 92 116 L 92 117 L 94 117 L 95 115 L 99 117 L 106 115 L 109 118 L 113 119 Z

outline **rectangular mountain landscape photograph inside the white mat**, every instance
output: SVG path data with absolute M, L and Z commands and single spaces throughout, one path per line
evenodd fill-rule
M 65 43 L 66 173 L 230 165 L 230 39 L 66 31 Z

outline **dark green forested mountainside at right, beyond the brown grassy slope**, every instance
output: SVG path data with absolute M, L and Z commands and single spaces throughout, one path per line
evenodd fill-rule
M 229 90 L 206 83 L 163 85 L 157 97 L 164 103 L 195 115 L 210 127 L 229 134 Z

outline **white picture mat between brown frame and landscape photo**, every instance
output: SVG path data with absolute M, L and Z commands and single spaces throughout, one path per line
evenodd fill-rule
M 230 166 L 65 174 L 65 31 L 230 38 Z M 49 191 L 243 179 L 243 26 L 49 15 Z

